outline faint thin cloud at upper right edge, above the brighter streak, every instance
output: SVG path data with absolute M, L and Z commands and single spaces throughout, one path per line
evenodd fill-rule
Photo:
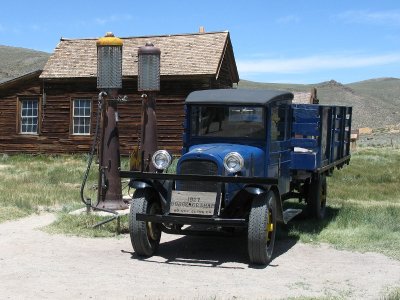
M 400 11 L 349 10 L 336 16 L 346 23 L 400 25 Z

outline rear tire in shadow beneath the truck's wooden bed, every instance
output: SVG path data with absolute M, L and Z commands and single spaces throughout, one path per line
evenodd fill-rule
M 318 175 L 312 178 L 308 186 L 307 210 L 310 217 L 322 220 L 326 213 L 327 185 L 326 176 Z

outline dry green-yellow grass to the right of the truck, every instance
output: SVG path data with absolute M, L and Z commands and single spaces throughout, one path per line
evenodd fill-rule
M 328 180 L 328 216 L 294 221 L 283 238 L 380 252 L 400 260 L 400 149 L 365 148 Z

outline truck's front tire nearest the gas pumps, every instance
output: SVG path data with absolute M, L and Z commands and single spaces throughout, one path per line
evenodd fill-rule
M 138 189 L 133 194 L 129 214 L 129 234 L 132 247 L 139 256 L 152 256 L 161 239 L 161 224 L 137 221 L 137 213 L 159 214 L 161 207 L 151 191 Z

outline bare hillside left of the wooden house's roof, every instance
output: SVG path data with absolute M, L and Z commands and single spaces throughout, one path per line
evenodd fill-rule
M 42 69 L 50 54 L 0 45 L 0 83 Z

